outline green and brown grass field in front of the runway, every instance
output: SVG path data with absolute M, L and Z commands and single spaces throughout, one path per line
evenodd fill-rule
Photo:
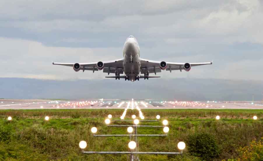
M 86 151 L 129 151 L 128 137 L 93 137 L 98 134 L 127 134 L 126 128 L 107 127 L 108 114 L 119 119 L 123 110 L 1 110 L 0 160 L 127 160 L 127 155 L 83 155 L 78 143 L 87 141 Z M 177 143 L 187 143 L 183 155 L 140 155 L 140 160 L 223 160 L 240 158 L 239 148 L 263 137 L 263 110 L 173 109 L 142 110 L 145 119 L 159 114 L 169 121 L 167 137 L 140 137 L 140 151 L 177 152 Z M 137 112 L 128 110 L 126 119 Z M 220 120 L 215 120 L 219 115 Z M 256 115 L 259 119 L 253 120 Z M 12 116 L 12 121 L 7 117 Z M 44 121 L 49 116 L 50 121 Z M 131 124 L 114 122 L 112 124 Z M 162 125 L 160 122 L 141 122 L 140 125 Z M 204 159 L 188 152 L 187 141 L 194 134 L 206 133 L 213 138 L 218 155 Z M 162 128 L 138 128 L 138 134 L 163 134 Z M 188 146 L 188 147 L 187 147 Z

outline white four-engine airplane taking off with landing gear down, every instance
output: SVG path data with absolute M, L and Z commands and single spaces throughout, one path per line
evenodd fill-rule
M 94 63 L 54 63 L 53 65 L 70 66 L 76 72 L 83 70 L 98 71 L 103 70 L 103 72 L 115 73 L 115 76 L 108 76 L 106 78 L 115 78 L 116 80 L 120 78 L 130 80 L 132 82 L 139 80 L 140 78 L 159 78 L 159 76 L 150 76 L 150 73 L 161 72 L 162 70 L 185 70 L 187 72 L 194 66 L 202 66 L 212 64 L 212 62 L 207 63 L 173 63 L 166 61 L 153 61 L 142 59 L 140 57 L 140 47 L 134 36 L 129 36 L 123 48 L 123 58 L 112 60 L 112 61 L 99 61 Z M 124 74 L 124 75 L 120 75 Z M 141 75 L 142 74 L 142 75 Z

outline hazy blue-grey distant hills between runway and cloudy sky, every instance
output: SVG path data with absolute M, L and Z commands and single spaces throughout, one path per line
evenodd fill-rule
M 225 79 L 149 79 L 136 82 L 0 78 L 0 98 L 153 98 L 160 100 L 262 100 L 263 82 Z

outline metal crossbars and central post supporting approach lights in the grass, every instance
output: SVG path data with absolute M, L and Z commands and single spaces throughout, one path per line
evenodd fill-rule
M 133 120 L 111 120 L 111 121 L 133 121 Z M 159 121 L 159 120 L 140 120 L 140 121 Z M 142 135 L 137 134 L 137 127 L 149 127 L 149 128 L 164 128 L 165 126 L 151 126 L 151 125 L 107 125 L 109 127 L 134 127 L 133 134 L 129 135 L 93 135 L 94 137 L 130 137 L 130 141 L 133 140 L 136 142 L 135 151 L 82 151 L 83 154 L 130 154 L 130 161 L 139 161 L 139 154 L 162 154 L 162 155 L 180 155 L 183 154 L 183 151 L 180 152 L 139 152 L 139 141 L 137 137 L 166 137 L 165 135 L 159 134 L 150 134 Z

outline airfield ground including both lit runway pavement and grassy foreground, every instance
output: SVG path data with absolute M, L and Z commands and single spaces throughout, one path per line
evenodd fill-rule
M 247 147 L 253 141 L 263 141 L 261 102 L 2 99 L 0 160 L 127 160 L 127 155 L 85 155 L 78 146 L 79 141 L 85 140 L 88 144 L 85 151 L 129 151 L 127 146 L 129 137 L 94 137 L 90 131 L 92 127 L 97 127 L 99 135 L 127 134 L 127 127 L 109 127 L 104 122 L 108 114 L 113 116 L 111 120 L 120 120 L 125 108 L 126 120 L 131 120 L 133 114 L 139 118 L 139 111 L 145 117 L 144 120 L 157 120 L 156 115 L 161 116 L 157 122 L 141 121 L 139 125 L 162 125 L 164 119 L 169 121 L 168 135 L 140 137 L 139 151 L 178 152 L 177 143 L 186 142 L 183 155 L 140 155 L 141 161 L 238 159 L 244 155 L 242 148 L 249 149 Z M 219 120 L 215 119 L 217 115 L 220 116 Z M 12 117 L 11 121 L 8 121 L 8 116 Z M 49 116 L 48 121 L 44 119 L 45 116 Z M 253 116 L 257 116 L 257 120 L 254 120 Z M 110 123 L 116 124 L 133 123 L 130 121 Z M 164 132 L 162 128 L 138 128 L 138 134 L 164 134 Z M 195 135 L 212 138 L 216 153 L 209 154 L 208 158 L 198 155 L 202 153 L 201 151 L 198 154 L 190 153 L 190 140 Z M 258 144 L 260 145 L 256 147 L 260 149 L 263 145 Z M 257 156 L 261 155 L 263 156 L 261 153 Z

